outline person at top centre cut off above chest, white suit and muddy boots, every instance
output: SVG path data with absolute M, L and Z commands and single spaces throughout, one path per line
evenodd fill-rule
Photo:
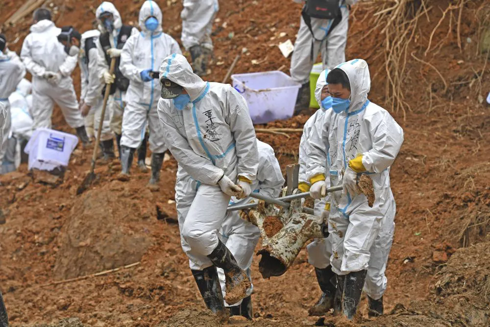
M 211 32 L 220 6 L 218 0 L 184 0 L 183 6 L 182 45 L 191 52 L 194 73 L 203 76 L 213 53 Z

